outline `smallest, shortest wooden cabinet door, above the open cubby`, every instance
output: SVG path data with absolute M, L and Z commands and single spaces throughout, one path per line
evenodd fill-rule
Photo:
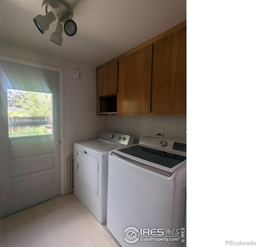
M 98 97 L 117 93 L 117 61 L 97 70 Z

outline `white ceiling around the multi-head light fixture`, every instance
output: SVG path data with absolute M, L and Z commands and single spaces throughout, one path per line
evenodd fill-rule
M 66 0 L 77 33 L 63 32 L 59 46 L 50 41 L 56 21 L 41 34 L 32 20 L 42 2 L 1 0 L 1 42 L 98 66 L 186 20 L 186 0 Z

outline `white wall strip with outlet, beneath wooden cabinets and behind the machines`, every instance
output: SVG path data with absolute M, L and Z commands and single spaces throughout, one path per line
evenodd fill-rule
M 186 140 L 186 117 L 108 116 L 108 131 L 131 134 L 135 143 L 143 134 L 156 136 L 157 128 L 164 129 L 166 138 Z

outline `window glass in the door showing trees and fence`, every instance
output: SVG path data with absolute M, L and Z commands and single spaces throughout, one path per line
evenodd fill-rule
M 7 89 L 9 137 L 52 134 L 52 94 Z

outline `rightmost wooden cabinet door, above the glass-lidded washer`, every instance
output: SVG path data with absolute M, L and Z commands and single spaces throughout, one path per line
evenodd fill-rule
M 186 27 L 153 43 L 152 113 L 186 113 Z

